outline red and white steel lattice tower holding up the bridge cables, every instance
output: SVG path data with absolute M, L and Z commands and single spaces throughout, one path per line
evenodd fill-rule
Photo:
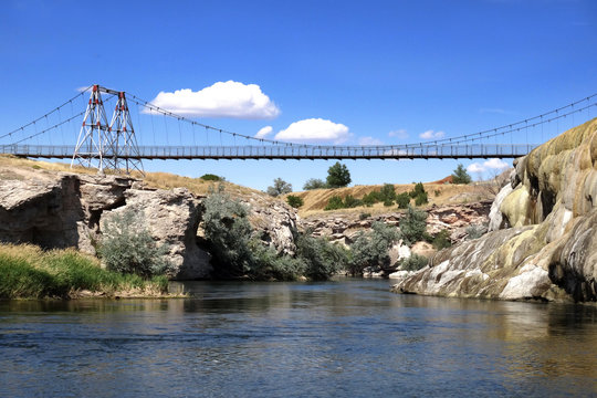
M 109 125 L 101 93 L 118 96 Z M 126 174 L 135 169 L 144 174 L 124 92 L 105 88 L 97 84 L 93 86 L 71 168 L 75 160 L 82 166 L 97 168 L 97 174 L 101 175 L 105 169 L 125 170 Z

